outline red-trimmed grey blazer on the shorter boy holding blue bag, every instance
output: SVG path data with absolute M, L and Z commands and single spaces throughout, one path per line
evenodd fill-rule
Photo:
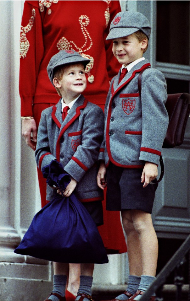
M 81 202 L 103 199 L 97 185 L 98 153 L 103 140 L 104 116 L 97 105 L 80 96 L 65 120 L 61 115 L 61 99 L 42 111 L 37 134 L 36 163 L 42 169 L 57 159 L 75 180 L 75 195 Z M 47 185 L 47 200 L 56 195 Z

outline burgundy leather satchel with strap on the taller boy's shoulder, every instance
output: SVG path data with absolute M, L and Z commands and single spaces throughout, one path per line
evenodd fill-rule
M 146 69 L 143 69 L 138 76 L 138 90 L 140 95 L 142 73 Z M 162 148 L 173 148 L 183 143 L 187 120 L 190 114 L 190 94 L 168 94 L 165 107 L 169 116 L 169 124 Z M 161 174 L 159 180 L 152 181 L 154 184 L 159 183 L 164 175 L 164 163 L 162 155 L 160 156 L 160 167 Z

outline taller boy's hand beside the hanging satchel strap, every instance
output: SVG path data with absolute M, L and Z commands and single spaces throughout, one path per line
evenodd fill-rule
M 142 187 L 146 187 L 152 180 L 158 175 L 157 165 L 151 162 L 146 162 L 142 171 L 141 183 L 144 183 Z

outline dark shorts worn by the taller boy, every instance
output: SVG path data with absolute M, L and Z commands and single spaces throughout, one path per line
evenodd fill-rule
M 158 184 L 141 183 L 142 169 L 122 168 L 110 162 L 107 169 L 106 210 L 142 210 L 152 213 Z

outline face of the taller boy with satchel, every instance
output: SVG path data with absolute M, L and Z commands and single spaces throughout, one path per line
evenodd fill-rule
M 126 37 L 113 39 L 112 51 L 118 62 L 126 67 L 142 57 L 143 50 L 146 46 L 146 39 L 139 42 L 137 37 L 132 34 Z

